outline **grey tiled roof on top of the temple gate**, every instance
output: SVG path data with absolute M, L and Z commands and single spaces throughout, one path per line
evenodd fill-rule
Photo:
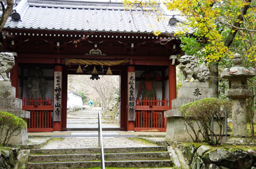
M 5 28 L 132 33 L 178 31 L 177 26 L 168 25 L 167 19 L 158 22 L 152 13 L 147 15 L 141 9 L 125 10 L 118 2 L 21 0 L 16 11 L 20 13 L 21 21 L 9 18 Z

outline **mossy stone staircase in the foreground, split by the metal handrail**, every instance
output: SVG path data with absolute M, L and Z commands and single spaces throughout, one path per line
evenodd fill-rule
M 105 167 L 171 168 L 167 147 L 104 148 Z M 99 148 L 33 149 L 27 168 L 91 168 L 101 166 Z

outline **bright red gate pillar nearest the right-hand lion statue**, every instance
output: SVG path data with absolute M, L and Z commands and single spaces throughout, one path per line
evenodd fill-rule
M 169 61 L 169 108 L 171 109 L 171 100 L 176 98 L 176 66 Z

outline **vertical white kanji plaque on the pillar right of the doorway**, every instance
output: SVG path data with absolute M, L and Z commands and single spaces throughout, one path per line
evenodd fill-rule
M 135 121 L 135 72 L 128 72 L 128 120 Z

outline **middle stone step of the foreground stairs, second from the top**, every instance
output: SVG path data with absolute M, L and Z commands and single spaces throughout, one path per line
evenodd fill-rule
M 106 161 L 116 160 L 168 160 L 167 152 L 155 153 L 110 153 L 105 154 Z M 96 161 L 101 159 L 101 154 L 58 154 L 58 155 L 30 155 L 29 162 L 67 162 L 67 161 Z

